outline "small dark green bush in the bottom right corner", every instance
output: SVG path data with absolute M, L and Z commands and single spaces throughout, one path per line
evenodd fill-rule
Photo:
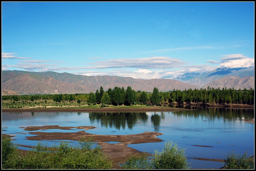
M 254 169 L 254 157 L 247 158 L 245 153 L 243 156 L 231 155 L 227 156 L 224 169 Z

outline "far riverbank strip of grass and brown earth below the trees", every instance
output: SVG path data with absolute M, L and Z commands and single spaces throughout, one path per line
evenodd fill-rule
M 169 105 L 169 104 L 168 104 Z M 254 109 L 254 105 L 249 104 L 199 104 L 199 103 L 184 103 L 181 108 L 177 104 L 170 104 L 172 107 L 165 106 L 107 106 L 101 107 L 100 105 L 77 105 L 77 106 L 45 106 L 45 107 L 23 107 L 23 108 L 3 108 L 2 112 L 157 112 L 157 111 L 186 111 L 192 110 L 185 107 L 200 106 L 206 108 L 235 108 L 235 109 Z

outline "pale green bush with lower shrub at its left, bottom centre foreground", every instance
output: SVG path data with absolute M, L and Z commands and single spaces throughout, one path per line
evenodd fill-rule
M 128 158 L 123 169 L 188 169 L 185 150 L 178 148 L 173 142 L 166 142 L 162 152 L 155 151 L 150 160 L 145 155 L 135 155 Z

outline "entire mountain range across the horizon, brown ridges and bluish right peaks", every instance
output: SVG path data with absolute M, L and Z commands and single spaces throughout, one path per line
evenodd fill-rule
M 2 95 L 76 94 L 96 92 L 114 87 L 131 86 L 135 91 L 172 91 L 195 88 L 254 88 L 254 68 L 218 68 L 208 73 L 185 73 L 173 79 L 134 79 L 119 76 L 84 76 L 71 73 L 2 71 Z M 3 91 L 4 90 L 4 91 Z M 11 90 L 11 91 L 10 91 Z

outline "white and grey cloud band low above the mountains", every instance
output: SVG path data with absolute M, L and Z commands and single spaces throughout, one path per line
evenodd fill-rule
M 2 53 L 4 59 L 29 59 L 27 57 L 16 57 L 14 53 Z M 98 59 L 98 57 L 97 57 Z M 222 55 L 220 61 L 207 60 L 206 63 L 217 64 L 210 65 L 190 65 L 187 61 L 180 59 L 155 56 L 144 58 L 129 59 L 110 59 L 106 61 L 97 61 L 85 65 L 84 67 L 67 67 L 60 61 L 48 60 L 22 60 L 13 65 L 2 65 L 2 70 L 9 68 L 18 68 L 33 72 L 69 72 L 87 76 L 110 75 L 133 77 L 135 79 L 175 79 L 184 73 L 205 73 L 217 68 L 244 68 L 254 67 L 254 58 L 246 57 L 242 54 Z

